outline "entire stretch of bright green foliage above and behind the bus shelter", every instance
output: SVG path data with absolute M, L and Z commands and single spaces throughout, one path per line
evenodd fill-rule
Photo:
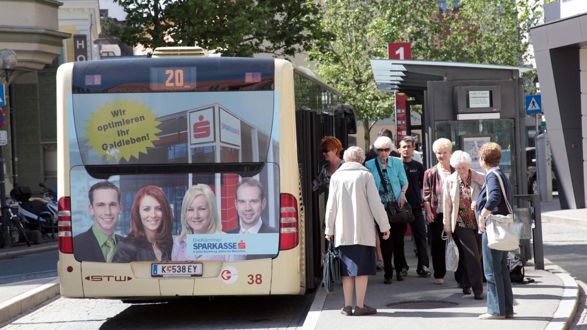
M 388 42 L 411 42 L 412 59 L 528 65 L 529 28 L 542 15 L 533 0 L 460 0 L 444 12 L 436 0 L 325 0 L 323 8 L 322 28 L 333 37 L 316 41 L 310 59 L 355 107 L 367 145 L 367 123 L 393 115 L 393 95 L 376 90 L 369 65 L 387 58 Z M 534 77 L 524 76 L 529 91 Z

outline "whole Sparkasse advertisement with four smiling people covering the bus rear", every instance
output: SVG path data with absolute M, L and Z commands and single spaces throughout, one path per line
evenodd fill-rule
M 70 196 L 78 261 L 275 257 L 273 92 L 75 94 L 72 103 Z M 161 164 L 168 167 L 164 173 L 149 172 Z M 200 166 L 175 171 L 176 164 Z M 234 166 L 218 170 L 217 164 Z M 93 170 L 108 166 L 112 175 Z M 116 166 L 139 167 L 116 174 Z

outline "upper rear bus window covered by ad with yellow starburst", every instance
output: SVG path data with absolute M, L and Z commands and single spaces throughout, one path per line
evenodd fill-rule
M 85 165 L 263 162 L 268 154 L 273 92 L 72 98 L 70 156 Z

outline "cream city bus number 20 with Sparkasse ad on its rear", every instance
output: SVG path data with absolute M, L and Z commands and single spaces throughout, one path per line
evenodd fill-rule
M 336 136 L 346 148 L 356 119 L 319 76 L 282 59 L 158 48 L 61 65 L 57 99 L 64 297 L 320 284 L 319 143 Z

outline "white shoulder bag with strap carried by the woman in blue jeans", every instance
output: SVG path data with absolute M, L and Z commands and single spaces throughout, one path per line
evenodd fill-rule
M 489 173 L 487 173 L 489 175 Z M 510 201 L 505 194 L 504 183 L 501 181 L 501 176 L 495 173 L 497 179 L 500 181 L 501 192 L 504 194 L 505 204 L 508 206 L 508 215 L 491 214 L 485 221 L 485 230 L 487 233 L 487 246 L 500 251 L 511 251 L 519 246 L 518 234 L 515 231 L 514 212 L 510 206 Z M 485 190 L 487 199 L 489 200 L 489 192 Z

